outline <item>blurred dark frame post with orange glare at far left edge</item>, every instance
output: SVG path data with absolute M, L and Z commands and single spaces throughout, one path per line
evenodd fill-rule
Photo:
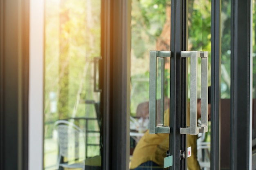
M 0 169 L 28 169 L 29 0 L 0 0 Z

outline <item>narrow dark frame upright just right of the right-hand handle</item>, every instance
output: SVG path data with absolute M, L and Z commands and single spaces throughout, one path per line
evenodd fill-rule
M 220 170 L 221 0 L 211 1 L 211 170 Z

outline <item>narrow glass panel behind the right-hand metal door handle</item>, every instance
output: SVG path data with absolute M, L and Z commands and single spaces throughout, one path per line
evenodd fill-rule
M 208 86 L 211 85 L 211 1 L 191 0 L 188 11 L 188 51 L 208 51 Z M 188 58 L 188 98 L 190 101 L 190 58 Z M 198 108 L 201 98 L 201 60 L 198 59 Z M 190 103 L 190 102 L 189 102 Z M 200 110 L 200 109 L 198 109 Z M 210 111 L 210 110 L 208 110 Z M 198 112 L 200 113 L 200 112 Z M 210 114 L 210 112 L 209 112 Z M 210 119 L 210 116 L 209 116 Z M 198 124 L 200 124 L 198 114 Z M 189 120 L 187 119 L 187 126 Z M 208 123 L 208 132 L 198 135 L 188 135 L 187 147 L 191 147 L 191 157 L 188 157 L 188 169 L 206 169 L 210 167 L 211 122 Z

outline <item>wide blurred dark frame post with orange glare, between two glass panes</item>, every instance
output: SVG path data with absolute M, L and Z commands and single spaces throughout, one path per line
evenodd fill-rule
M 131 0 L 102 0 L 102 169 L 129 169 Z

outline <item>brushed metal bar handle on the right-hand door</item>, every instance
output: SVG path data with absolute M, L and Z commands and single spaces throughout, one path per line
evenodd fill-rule
M 190 57 L 190 125 L 180 128 L 181 134 L 198 135 L 208 131 L 208 52 L 182 51 L 181 57 Z M 198 126 L 197 115 L 197 74 L 198 58 L 201 57 L 201 126 Z

